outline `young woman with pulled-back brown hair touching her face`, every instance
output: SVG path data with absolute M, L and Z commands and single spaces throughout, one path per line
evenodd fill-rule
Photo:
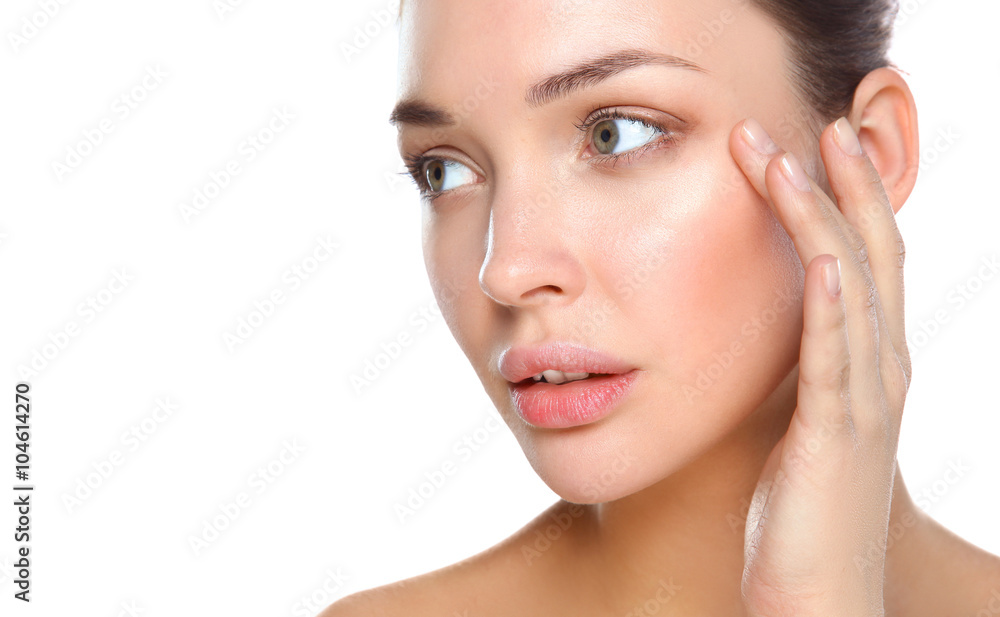
M 401 8 L 430 280 L 562 500 L 324 615 L 1000 614 L 1000 559 L 895 462 L 918 140 L 894 9 Z

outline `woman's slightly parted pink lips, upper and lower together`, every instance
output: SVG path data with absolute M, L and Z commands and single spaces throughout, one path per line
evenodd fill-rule
M 509 382 L 518 415 L 539 428 L 569 428 L 606 417 L 639 374 L 618 358 L 569 343 L 512 347 L 500 355 L 499 369 Z M 560 385 L 531 380 L 545 369 L 601 376 Z

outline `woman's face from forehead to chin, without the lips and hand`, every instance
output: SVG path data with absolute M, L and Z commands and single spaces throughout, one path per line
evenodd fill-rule
M 752 116 L 819 161 L 774 23 L 742 0 L 407 0 L 402 23 L 400 101 L 452 120 L 397 116 L 400 151 L 438 159 L 430 281 L 539 476 L 607 501 L 740 435 L 797 362 L 803 270 L 730 132 Z M 627 394 L 525 419 L 499 363 L 550 343 L 636 369 Z

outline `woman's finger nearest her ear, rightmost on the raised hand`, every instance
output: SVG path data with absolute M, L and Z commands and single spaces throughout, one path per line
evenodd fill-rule
M 840 212 L 868 247 L 868 268 L 878 289 L 885 327 L 909 384 L 911 368 L 903 306 L 906 249 L 892 204 L 878 170 L 862 150 L 846 118 L 831 123 L 823 131 L 820 154 Z

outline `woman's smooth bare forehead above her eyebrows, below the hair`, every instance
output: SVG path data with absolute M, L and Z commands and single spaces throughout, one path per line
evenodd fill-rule
M 623 49 L 695 63 L 728 93 L 784 82 L 782 37 L 748 0 L 406 0 L 399 98 L 460 101 L 484 80 L 520 93 Z

